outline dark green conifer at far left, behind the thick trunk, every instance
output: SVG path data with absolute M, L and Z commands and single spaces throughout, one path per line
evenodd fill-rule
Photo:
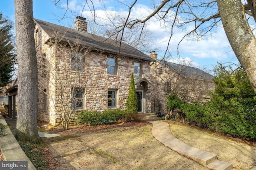
M 0 86 L 6 86 L 12 81 L 13 64 L 16 55 L 13 53 L 11 21 L 3 18 L 0 13 Z

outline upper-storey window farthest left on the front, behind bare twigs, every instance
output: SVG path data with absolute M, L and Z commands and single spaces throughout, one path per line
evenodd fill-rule
M 71 70 L 83 71 L 84 70 L 84 59 L 82 53 L 71 53 Z

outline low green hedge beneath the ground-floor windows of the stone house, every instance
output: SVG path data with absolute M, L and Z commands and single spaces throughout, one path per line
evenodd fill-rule
M 110 122 L 118 122 L 130 114 L 126 110 L 104 110 L 104 111 L 81 111 L 78 113 L 78 124 L 104 125 Z

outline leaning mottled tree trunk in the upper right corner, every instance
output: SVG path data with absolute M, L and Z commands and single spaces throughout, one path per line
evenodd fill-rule
M 256 39 L 241 0 L 217 0 L 217 4 L 228 41 L 256 92 Z

